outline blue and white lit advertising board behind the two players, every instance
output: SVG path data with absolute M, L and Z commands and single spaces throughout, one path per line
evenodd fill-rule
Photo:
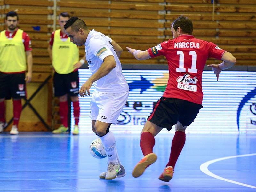
M 111 131 L 141 132 L 154 102 L 163 95 L 169 73 L 167 70 L 123 70 L 123 73 L 130 94 L 118 124 L 111 125 Z M 89 69 L 79 70 L 80 87 L 90 76 Z M 187 133 L 256 133 L 255 72 L 222 71 L 217 81 L 212 71 L 204 71 L 202 82 L 204 108 L 187 128 Z M 90 89 L 92 94 L 93 90 L 94 87 Z M 91 96 L 79 98 L 82 133 L 92 132 L 90 100 Z M 71 126 L 74 126 L 73 116 Z

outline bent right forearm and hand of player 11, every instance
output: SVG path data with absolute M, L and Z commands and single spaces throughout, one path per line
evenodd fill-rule
M 225 52 L 222 55 L 221 60 L 223 60 L 223 62 L 218 65 L 207 65 L 208 67 L 212 67 L 212 70 L 217 77 L 217 81 L 219 80 L 219 75 L 222 70 L 231 68 L 236 63 L 236 58 L 230 52 Z

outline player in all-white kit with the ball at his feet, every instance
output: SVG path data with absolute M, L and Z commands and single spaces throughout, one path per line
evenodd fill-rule
M 109 131 L 110 125 L 116 124 L 129 95 L 129 86 L 119 61 L 122 48 L 108 36 L 89 30 L 77 17 L 71 17 L 64 28 L 71 42 L 85 45 L 86 60 L 92 72 L 79 94 L 82 97 L 90 95 L 90 87 L 94 85 L 90 102 L 92 130 L 101 139 L 108 157 L 108 169 L 100 174 L 100 178 L 123 177 L 126 172 L 116 151 L 115 137 Z

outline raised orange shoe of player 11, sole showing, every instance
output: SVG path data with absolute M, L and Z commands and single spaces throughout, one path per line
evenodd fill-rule
M 155 153 L 149 153 L 148 155 L 145 155 L 143 159 L 139 161 L 139 163 L 136 164 L 132 171 L 133 177 L 140 177 L 140 175 L 143 174 L 145 169 L 156 162 L 157 156 Z

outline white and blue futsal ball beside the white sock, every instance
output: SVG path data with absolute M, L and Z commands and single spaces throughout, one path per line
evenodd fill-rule
M 101 143 L 100 138 L 97 138 L 92 141 L 90 145 L 90 153 L 93 157 L 97 159 L 103 159 L 107 156 L 105 149 Z

